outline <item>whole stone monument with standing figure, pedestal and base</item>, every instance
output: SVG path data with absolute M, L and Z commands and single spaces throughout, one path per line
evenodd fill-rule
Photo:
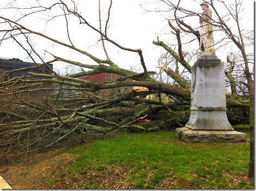
M 204 51 L 191 71 L 190 118 L 185 127 L 176 129 L 176 136 L 185 142 L 244 142 L 246 134 L 234 131 L 227 119 L 224 65 L 215 54 L 212 13 L 207 3 L 201 6 Z

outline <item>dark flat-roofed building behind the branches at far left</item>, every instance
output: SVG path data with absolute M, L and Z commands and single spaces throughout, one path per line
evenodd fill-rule
M 53 64 L 48 64 L 50 68 L 53 69 Z M 5 73 L 5 71 L 11 71 L 11 70 L 16 70 L 16 69 L 21 69 L 21 68 L 28 68 L 28 67 L 35 67 L 35 63 L 31 62 L 23 62 L 22 60 L 18 58 L 1 58 L 0 57 L 0 74 Z M 41 69 L 44 71 L 46 74 L 52 74 L 52 72 L 47 69 L 46 67 L 42 66 Z M 34 68 L 34 69 L 25 69 L 21 71 L 16 71 L 15 73 L 11 73 L 8 76 L 2 77 L 1 82 L 7 81 L 11 78 L 14 77 L 21 77 L 21 76 L 28 76 L 28 71 L 33 72 L 33 73 L 39 73 L 43 74 L 43 71 L 40 68 Z M 1 76 L 0 76 L 1 77 Z M 37 79 L 41 79 L 43 77 L 36 77 Z

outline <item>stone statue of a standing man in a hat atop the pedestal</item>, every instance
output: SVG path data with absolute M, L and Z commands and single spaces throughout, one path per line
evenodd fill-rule
M 210 24 L 212 22 L 212 10 L 209 9 L 207 3 L 202 3 L 200 5 L 203 10 L 203 14 L 202 17 L 200 17 L 199 22 L 203 29 L 203 32 L 201 31 L 201 35 L 203 39 L 204 52 L 214 52 L 213 27 L 212 24 Z

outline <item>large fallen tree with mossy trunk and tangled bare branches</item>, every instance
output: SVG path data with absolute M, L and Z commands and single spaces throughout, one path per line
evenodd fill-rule
M 1 30 L 3 33 L 1 42 L 12 39 L 24 49 L 35 63 L 35 67 L 5 70 L 1 73 L 0 77 L 5 78 L 18 71 L 29 70 L 27 76 L 14 77 L 0 83 L 0 148 L 4 153 L 2 159 L 10 159 L 24 153 L 52 148 L 66 142 L 84 142 L 86 139 L 104 137 L 116 132 L 175 130 L 176 127 L 183 127 L 189 119 L 189 74 L 191 73 L 189 62 L 191 56 L 182 51 L 180 29 L 175 28 L 169 22 L 170 29 L 175 31 L 178 53 L 171 49 L 169 45 L 159 41 L 158 37 L 157 41 L 153 41 L 153 44 L 163 47 L 167 51 L 168 59 L 171 59 L 171 61 L 169 62 L 167 59 L 164 61 L 175 65 L 175 71 L 168 64 L 159 65 L 159 74 L 164 71 L 172 78 L 171 83 L 164 83 L 152 77 L 152 74 L 156 74 L 156 72 L 148 71 L 146 68 L 142 50 L 123 47 L 108 37 L 107 23 L 112 1 L 108 9 L 108 19 L 104 32 L 101 30 L 100 1 L 99 29 L 88 23 L 79 14 L 72 2 L 58 1 L 50 6 L 39 4 L 39 6 L 31 7 L 30 14 L 25 15 L 33 16 L 36 12 L 51 12 L 53 8 L 60 9 L 62 14 L 55 15 L 55 17 L 65 18 L 69 43 L 31 30 L 17 20 L 0 16 L 2 24 L 8 24 L 7 28 Z M 69 3 L 73 4 L 74 8 Z M 57 7 L 58 5 L 61 5 L 60 8 Z M 74 46 L 69 36 L 67 16 L 78 18 L 79 25 L 86 25 L 100 36 L 99 41 L 103 43 L 106 59 L 100 59 Z M 183 21 L 179 22 L 189 29 L 186 32 L 194 35 L 200 42 L 198 30 L 192 29 Z M 72 51 L 79 52 L 87 56 L 93 64 L 81 63 L 75 61 L 75 59 L 74 61 L 68 60 L 48 51 L 46 51 L 46 54 L 51 56 L 51 59 L 45 61 L 33 48 L 28 35 L 36 35 Z M 27 43 L 27 48 L 21 43 L 21 39 Z M 118 67 L 119 63 L 114 63 L 108 56 L 105 42 L 123 51 L 136 54 L 143 72 L 136 73 Z M 34 60 L 33 55 L 40 59 L 41 64 Z M 80 67 L 80 70 L 73 74 L 60 75 L 48 66 L 49 63 L 56 62 L 69 63 Z M 183 67 L 182 73 L 178 70 L 179 66 Z M 42 74 L 35 73 L 34 69 L 40 67 L 48 68 L 51 74 L 45 74 L 43 70 Z M 118 78 L 98 82 L 91 77 L 101 73 L 115 74 L 118 75 Z M 231 72 L 227 74 L 229 77 L 232 75 Z M 90 81 L 79 79 L 84 76 L 88 76 Z M 31 78 L 40 78 L 40 80 Z M 140 87 L 140 90 L 144 90 L 136 90 L 134 87 Z M 154 98 L 149 99 L 147 97 L 152 95 Z M 163 95 L 167 96 L 168 102 L 163 101 Z M 242 119 L 241 121 L 240 117 L 236 117 L 241 114 L 245 118 L 248 117 L 247 101 L 236 102 L 231 97 L 227 101 L 227 108 L 227 115 L 231 124 L 247 123 L 246 120 Z M 150 121 L 139 123 L 140 120 L 145 118 Z

